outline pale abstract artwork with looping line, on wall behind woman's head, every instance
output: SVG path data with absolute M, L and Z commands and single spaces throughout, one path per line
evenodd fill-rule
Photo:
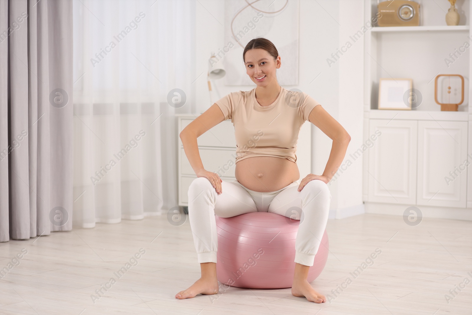
M 278 83 L 298 85 L 299 0 L 225 0 L 224 42 L 216 52 L 223 63 L 225 85 L 250 85 L 243 51 L 256 37 L 264 37 L 277 47 L 283 67 L 277 69 Z

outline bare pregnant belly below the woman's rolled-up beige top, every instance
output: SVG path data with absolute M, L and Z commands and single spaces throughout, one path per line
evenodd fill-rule
M 270 192 L 300 178 L 295 162 L 273 156 L 254 156 L 236 163 L 235 176 L 244 187 Z

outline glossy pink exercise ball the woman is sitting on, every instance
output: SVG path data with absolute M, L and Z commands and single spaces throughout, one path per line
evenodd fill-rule
M 218 232 L 218 281 L 238 288 L 291 288 L 295 271 L 295 239 L 300 221 L 269 212 L 215 216 Z M 308 282 L 315 280 L 328 259 L 324 231 Z

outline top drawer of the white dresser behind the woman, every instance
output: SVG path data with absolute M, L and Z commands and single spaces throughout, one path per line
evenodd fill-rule
M 181 119 L 181 130 L 179 130 L 179 133 L 193 120 L 194 119 Z M 182 143 L 180 137 L 179 143 Z M 218 125 L 199 136 L 197 143 L 203 146 L 234 147 L 236 150 L 235 128 L 233 123 L 229 119 L 220 122 Z

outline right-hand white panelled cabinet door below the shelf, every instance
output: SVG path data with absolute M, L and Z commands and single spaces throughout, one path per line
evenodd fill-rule
M 466 121 L 419 121 L 417 204 L 465 208 L 466 159 Z

